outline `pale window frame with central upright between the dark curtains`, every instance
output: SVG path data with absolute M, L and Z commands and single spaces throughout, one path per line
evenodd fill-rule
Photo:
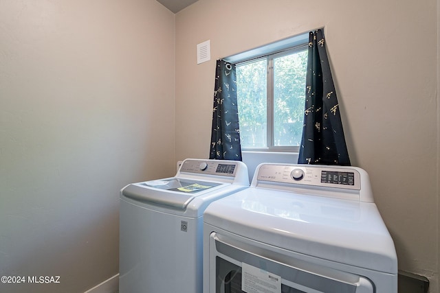
M 300 146 L 274 145 L 274 59 L 295 54 L 307 49 L 309 44 L 309 32 L 280 40 L 269 45 L 223 58 L 228 62 L 235 63 L 236 67 L 246 65 L 258 60 L 266 60 L 267 69 L 267 134 L 265 147 L 241 147 L 243 151 L 250 152 L 299 152 Z

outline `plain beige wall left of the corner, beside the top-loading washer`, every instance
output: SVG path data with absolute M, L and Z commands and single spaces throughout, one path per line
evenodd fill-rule
M 118 273 L 119 190 L 175 172 L 174 75 L 155 0 L 0 1 L 0 276 L 61 277 L 0 292 Z

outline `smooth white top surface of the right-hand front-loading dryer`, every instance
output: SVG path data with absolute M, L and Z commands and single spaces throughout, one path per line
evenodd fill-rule
M 212 231 L 397 274 L 393 239 L 373 202 L 251 187 L 212 202 L 203 221 Z

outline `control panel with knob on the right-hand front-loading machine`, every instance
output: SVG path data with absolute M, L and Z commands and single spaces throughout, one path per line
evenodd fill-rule
M 262 181 L 360 190 L 360 174 L 350 167 L 263 164 L 258 172 Z

